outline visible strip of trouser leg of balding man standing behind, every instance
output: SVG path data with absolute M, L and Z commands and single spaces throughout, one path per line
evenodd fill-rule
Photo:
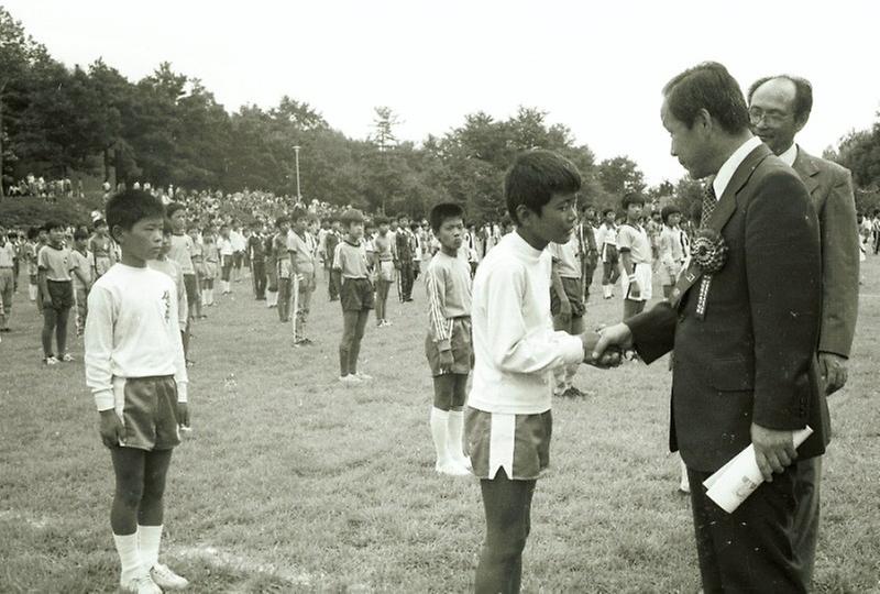
M 801 562 L 804 584 L 813 581 L 818 540 L 820 484 L 822 483 L 822 457 L 798 463 L 798 512 L 794 515 L 794 552 Z

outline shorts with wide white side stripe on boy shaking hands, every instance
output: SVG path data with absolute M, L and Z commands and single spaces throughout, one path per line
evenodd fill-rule
M 495 479 L 498 469 L 514 481 L 534 481 L 550 465 L 550 410 L 535 415 L 464 411 L 468 455 L 477 479 Z

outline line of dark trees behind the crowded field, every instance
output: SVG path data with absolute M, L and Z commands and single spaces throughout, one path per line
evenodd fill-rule
M 506 120 L 472 113 L 419 145 L 399 142 L 396 123 L 391 108 L 377 107 L 374 133 L 350 139 L 290 97 L 230 113 L 199 79 L 168 63 L 138 81 L 102 59 L 67 68 L 0 7 L 0 191 L 34 173 L 293 196 L 296 145 L 306 199 L 419 217 L 451 199 L 476 221 L 497 220 L 505 210 L 506 168 L 517 153 L 542 147 L 579 167 L 582 196 L 600 208 L 617 206 L 626 193 L 676 201 L 685 213 L 700 200 L 700 183 L 688 177 L 648 187 L 626 155 L 597 163 L 569 128 L 549 124 L 537 108 L 520 107 Z M 854 133 L 833 156 L 869 188 L 865 196 L 877 194 L 880 124 Z

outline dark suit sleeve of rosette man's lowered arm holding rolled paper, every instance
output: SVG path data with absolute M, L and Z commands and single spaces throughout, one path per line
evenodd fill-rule
M 818 221 L 800 178 L 766 178 L 747 207 L 745 239 L 755 337 L 752 420 L 768 429 L 801 429 L 810 408 L 822 273 Z

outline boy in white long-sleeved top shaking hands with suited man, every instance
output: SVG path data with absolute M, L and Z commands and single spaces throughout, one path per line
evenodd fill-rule
M 561 156 L 520 155 L 505 179 L 516 230 L 486 254 L 474 277 L 475 364 L 465 436 L 486 516 L 479 594 L 519 592 L 531 498 L 549 464 L 553 370 L 584 361 L 597 339 L 557 332 L 550 318 L 551 256 L 544 248 L 571 235 L 580 187 L 578 169 Z M 617 362 L 619 354 L 604 361 Z

